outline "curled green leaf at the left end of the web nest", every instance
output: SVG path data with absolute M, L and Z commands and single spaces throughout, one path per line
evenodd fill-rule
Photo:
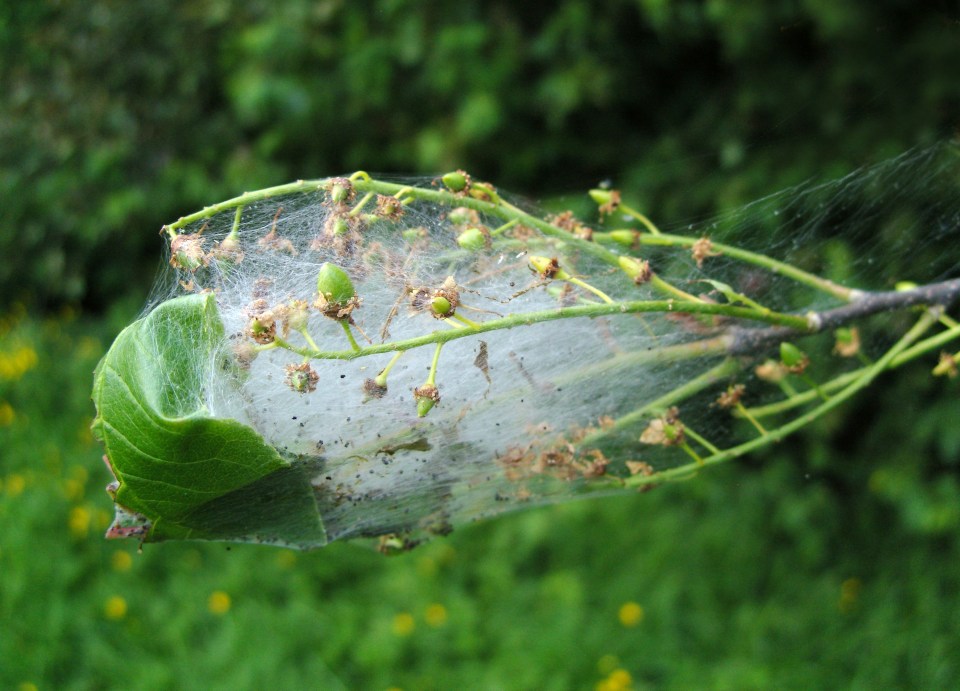
M 146 519 L 147 541 L 323 545 L 307 469 L 253 428 L 210 416 L 204 385 L 223 334 L 213 295 L 175 298 L 124 329 L 97 366 L 94 430 L 118 516 Z

